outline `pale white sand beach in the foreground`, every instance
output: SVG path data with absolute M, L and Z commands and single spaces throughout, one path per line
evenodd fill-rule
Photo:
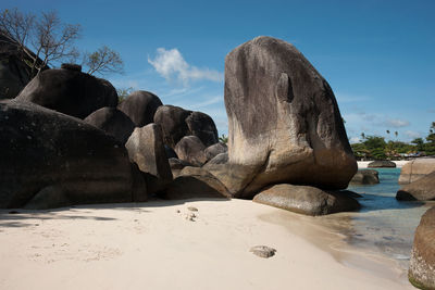
M 284 211 L 251 201 L 20 212 L 0 211 L 0 289 L 413 289 L 393 261 L 356 252 L 340 263 L 302 238 L 339 244 L 315 218 L 285 212 L 281 226 L 271 220 Z M 259 244 L 276 255 L 249 252 Z

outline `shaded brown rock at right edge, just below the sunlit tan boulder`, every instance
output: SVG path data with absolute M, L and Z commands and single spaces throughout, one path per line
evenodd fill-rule
M 397 191 L 397 200 L 435 200 L 435 172 L 403 186 Z

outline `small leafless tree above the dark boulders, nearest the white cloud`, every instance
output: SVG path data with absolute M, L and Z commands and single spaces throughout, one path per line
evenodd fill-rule
M 108 74 L 108 73 L 123 73 L 124 62 L 121 59 L 119 52 L 110 49 L 107 46 L 99 48 L 92 53 L 86 53 L 84 58 L 85 66 L 87 66 L 88 74 L 95 73 Z

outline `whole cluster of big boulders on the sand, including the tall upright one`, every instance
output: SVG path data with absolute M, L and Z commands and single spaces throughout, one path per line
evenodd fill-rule
M 1 103 L 2 207 L 257 198 L 310 215 L 359 207 L 357 172 L 334 93 L 291 45 L 258 37 L 225 60 L 229 142 L 204 113 L 64 65 Z M 16 162 L 18 161 L 18 162 Z M 4 184 L 4 186 L 3 186 Z

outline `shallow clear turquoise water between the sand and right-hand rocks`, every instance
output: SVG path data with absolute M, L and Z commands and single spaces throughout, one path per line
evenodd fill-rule
M 400 168 L 376 171 L 380 184 L 348 188 L 362 196 L 358 199 L 361 211 L 332 215 L 328 219 L 346 236 L 348 243 L 385 254 L 408 268 L 415 228 L 424 212 L 435 203 L 397 201 Z

